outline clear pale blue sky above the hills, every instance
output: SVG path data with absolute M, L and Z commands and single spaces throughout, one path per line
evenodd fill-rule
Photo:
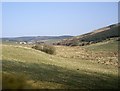
M 117 2 L 2 3 L 2 37 L 76 36 L 117 22 Z

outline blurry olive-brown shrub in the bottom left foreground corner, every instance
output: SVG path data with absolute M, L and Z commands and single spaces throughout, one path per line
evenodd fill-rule
M 25 89 L 30 87 L 26 81 L 27 79 L 23 75 L 3 73 L 2 89 Z

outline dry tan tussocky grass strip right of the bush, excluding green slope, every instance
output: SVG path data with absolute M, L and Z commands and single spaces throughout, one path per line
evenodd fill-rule
M 118 52 L 92 51 L 84 47 L 56 46 L 56 55 L 63 58 L 96 61 L 101 64 L 118 66 Z

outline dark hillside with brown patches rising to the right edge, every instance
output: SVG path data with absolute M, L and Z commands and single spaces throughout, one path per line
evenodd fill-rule
M 104 40 L 109 40 L 111 38 L 120 37 L 118 30 L 120 28 L 120 23 L 109 25 L 90 33 L 86 33 L 80 36 L 75 36 L 69 39 L 64 39 L 58 42 L 57 45 L 66 46 L 84 46 L 92 43 L 102 42 Z

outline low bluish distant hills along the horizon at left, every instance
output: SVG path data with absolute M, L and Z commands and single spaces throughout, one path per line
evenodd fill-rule
M 43 42 L 58 42 L 62 39 L 71 38 L 73 36 L 64 35 L 64 36 L 26 36 L 26 37 L 14 37 L 14 38 L 2 38 L 2 41 L 9 41 L 9 42 L 37 42 L 37 41 L 43 41 Z

